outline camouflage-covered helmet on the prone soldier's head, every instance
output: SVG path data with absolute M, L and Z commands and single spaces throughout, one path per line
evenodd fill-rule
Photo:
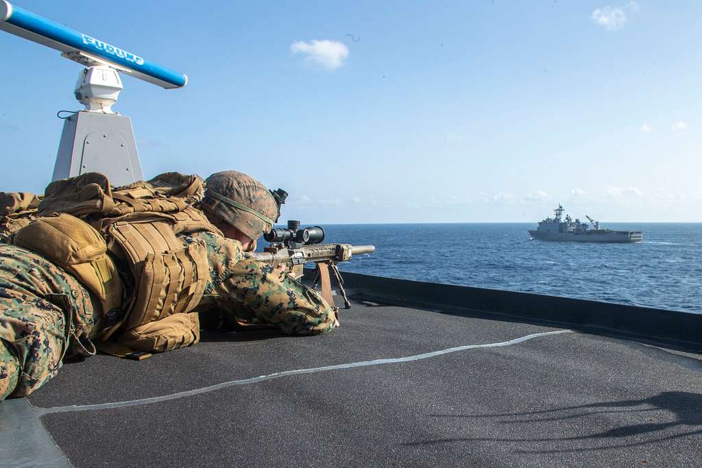
M 237 171 L 209 176 L 201 206 L 207 215 L 214 215 L 254 240 L 269 232 L 280 214 L 277 199 L 265 185 Z

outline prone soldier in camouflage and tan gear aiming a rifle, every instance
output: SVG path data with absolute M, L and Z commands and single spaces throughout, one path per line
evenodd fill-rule
M 97 173 L 52 182 L 39 217 L 0 245 L 0 401 L 41 387 L 65 356 L 192 345 L 208 307 L 291 335 L 336 328 L 319 293 L 245 255 L 281 192 L 235 171 L 211 175 L 204 195 L 177 173 L 114 192 Z

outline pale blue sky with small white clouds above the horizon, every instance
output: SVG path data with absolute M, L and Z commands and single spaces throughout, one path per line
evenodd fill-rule
M 124 77 L 144 173 L 303 222 L 702 221 L 702 3 L 13 2 L 185 72 Z M 43 191 L 80 67 L 0 32 L 0 190 Z

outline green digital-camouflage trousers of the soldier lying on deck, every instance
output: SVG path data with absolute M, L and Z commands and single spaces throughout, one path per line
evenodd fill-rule
M 56 375 L 66 354 L 95 354 L 88 291 L 40 255 L 0 245 L 0 401 Z

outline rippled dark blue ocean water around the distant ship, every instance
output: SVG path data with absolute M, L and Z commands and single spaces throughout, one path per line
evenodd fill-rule
M 326 225 L 373 244 L 342 271 L 702 313 L 702 223 L 607 223 L 642 243 L 530 240 L 536 223 Z

